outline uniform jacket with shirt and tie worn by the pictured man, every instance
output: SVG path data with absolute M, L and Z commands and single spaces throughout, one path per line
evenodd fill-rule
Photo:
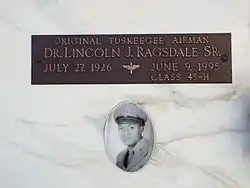
M 149 141 L 142 138 L 133 148 L 132 158 L 128 161 L 129 149 L 125 149 L 117 155 L 116 165 L 124 171 L 133 172 L 141 169 L 150 159 L 152 147 Z

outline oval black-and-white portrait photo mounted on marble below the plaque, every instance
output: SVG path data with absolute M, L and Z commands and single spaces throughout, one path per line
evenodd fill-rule
M 105 122 L 105 148 L 120 169 L 134 172 L 150 160 L 154 148 L 154 129 L 145 110 L 131 102 L 116 105 Z

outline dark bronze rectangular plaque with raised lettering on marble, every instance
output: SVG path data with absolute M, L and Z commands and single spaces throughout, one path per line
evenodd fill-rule
M 232 83 L 230 33 L 33 35 L 31 84 Z

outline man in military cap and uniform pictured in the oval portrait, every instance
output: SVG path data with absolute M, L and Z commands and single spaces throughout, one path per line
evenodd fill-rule
M 149 141 L 142 136 L 147 115 L 137 105 L 125 103 L 115 110 L 114 120 L 119 137 L 127 146 L 117 155 L 116 165 L 124 171 L 137 171 L 148 162 L 152 151 Z

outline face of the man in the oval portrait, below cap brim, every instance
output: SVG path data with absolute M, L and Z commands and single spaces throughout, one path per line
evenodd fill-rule
M 143 127 L 138 123 L 119 123 L 118 133 L 122 142 L 127 146 L 136 144 L 142 136 Z

